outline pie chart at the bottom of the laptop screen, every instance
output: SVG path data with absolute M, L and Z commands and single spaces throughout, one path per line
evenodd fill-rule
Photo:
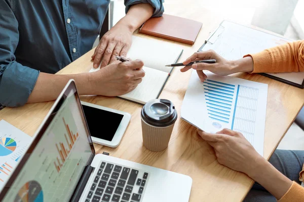
M 39 182 L 32 180 L 26 182 L 19 190 L 14 201 L 43 202 L 43 191 Z

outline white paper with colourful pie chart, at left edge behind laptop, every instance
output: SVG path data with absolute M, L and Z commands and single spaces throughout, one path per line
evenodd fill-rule
M 0 121 L 0 190 L 24 155 L 32 137 L 5 120 Z

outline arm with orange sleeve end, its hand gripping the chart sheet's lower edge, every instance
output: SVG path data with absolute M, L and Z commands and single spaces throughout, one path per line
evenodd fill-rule
M 304 187 L 292 182 L 261 157 L 241 133 L 229 129 L 216 134 L 201 130 L 198 133 L 214 148 L 218 163 L 247 174 L 280 202 L 304 198 Z

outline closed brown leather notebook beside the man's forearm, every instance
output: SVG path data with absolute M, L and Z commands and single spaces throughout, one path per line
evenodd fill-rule
M 201 27 L 201 22 L 163 14 L 147 20 L 139 32 L 193 45 Z

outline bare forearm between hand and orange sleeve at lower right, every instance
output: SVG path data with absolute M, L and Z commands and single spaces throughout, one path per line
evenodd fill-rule
M 249 177 L 280 199 L 291 187 L 292 181 L 262 157 L 256 161 L 256 164 L 256 168 L 251 173 L 247 173 Z

